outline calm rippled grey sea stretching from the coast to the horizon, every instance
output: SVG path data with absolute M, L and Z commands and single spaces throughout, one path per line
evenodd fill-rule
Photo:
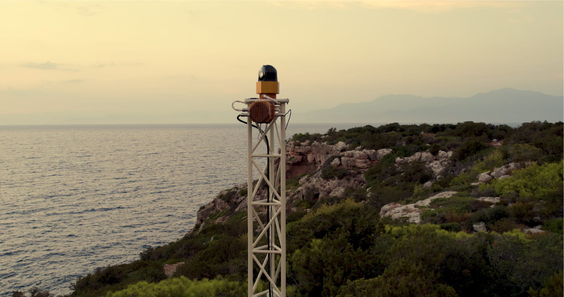
M 364 125 L 290 122 L 287 137 Z M 96 267 L 183 237 L 245 181 L 243 124 L 0 126 L 0 296 L 68 294 Z

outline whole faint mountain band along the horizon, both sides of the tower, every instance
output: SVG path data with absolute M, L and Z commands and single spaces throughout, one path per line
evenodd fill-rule
M 0 114 L 0 125 L 225 123 L 232 111 L 173 113 L 45 112 Z M 227 119 L 233 118 L 233 121 Z M 369 102 L 343 103 L 329 109 L 292 114 L 294 123 L 523 123 L 564 121 L 564 97 L 502 88 L 472 97 L 385 95 Z

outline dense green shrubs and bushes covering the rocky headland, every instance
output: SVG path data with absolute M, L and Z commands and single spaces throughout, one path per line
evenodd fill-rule
M 518 128 L 464 122 L 294 135 L 290 141 L 298 145 L 343 141 L 349 149 L 393 150 L 365 170 L 363 188 L 319 200 L 306 189 L 303 200 L 289 200 L 288 296 L 562 296 L 562 132 L 562 122 Z M 503 145 L 492 146 L 493 139 Z M 396 157 L 439 150 L 454 152 L 440 179 L 425 163 L 395 163 Z M 510 178 L 472 185 L 481 172 L 511 162 L 523 166 Z M 328 164 L 321 169 L 325 179 L 350 174 Z M 287 181 L 288 197 L 299 178 Z M 422 187 L 430 180 L 431 187 Z M 458 193 L 433 200 L 422 211 L 426 224 L 378 215 L 387 203 L 412 203 L 444 190 Z M 501 200 L 492 205 L 477 197 Z M 244 295 L 246 211 L 234 209 L 211 214 L 179 241 L 151 247 L 133 263 L 96 269 L 74 283 L 72 296 Z M 228 219 L 212 223 L 220 217 Z M 488 232 L 475 232 L 478 222 Z M 545 233 L 521 231 L 537 225 Z M 163 265 L 180 261 L 175 278 L 166 279 Z

